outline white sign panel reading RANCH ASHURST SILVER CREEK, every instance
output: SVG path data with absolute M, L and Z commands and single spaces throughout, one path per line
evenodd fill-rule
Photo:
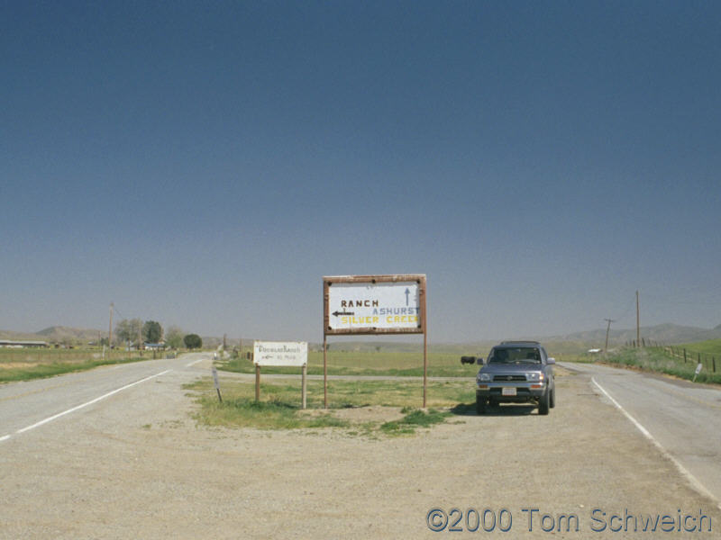
M 418 331 L 421 284 L 414 281 L 333 283 L 327 288 L 328 330 Z

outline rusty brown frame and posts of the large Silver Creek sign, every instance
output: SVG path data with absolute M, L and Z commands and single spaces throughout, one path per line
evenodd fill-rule
M 332 329 L 330 325 L 330 288 L 333 284 L 388 284 L 399 282 L 415 282 L 418 284 L 418 305 L 420 324 L 417 328 L 379 329 L 376 327 L 360 327 L 357 329 Z M 426 283 L 424 274 L 390 274 L 390 275 L 324 275 L 323 276 L 323 401 L 328 409 L 328 336 L 370 336 L 393 334 L 423 334 L 423 407 L 426 405 L 426 389 L 428 381 L 428 326 L 425 309 Z

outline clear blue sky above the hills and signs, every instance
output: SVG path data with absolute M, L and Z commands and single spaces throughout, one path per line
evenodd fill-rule
M 721 323 L 713 2 L 0 7 L 0 329 L 322 339 L 323 275 L 429 339 Z

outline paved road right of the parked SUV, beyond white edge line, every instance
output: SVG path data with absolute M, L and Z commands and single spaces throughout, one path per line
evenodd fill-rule
M 562 365 L 589 376 L 622 411 L 619 419 L 634 423 L 698 491 L 721 501 L 721 390 L 606 365 Z

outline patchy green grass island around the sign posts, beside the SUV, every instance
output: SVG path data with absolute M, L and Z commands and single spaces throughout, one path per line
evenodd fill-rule
M 328 384 L 329 409 L 324 407 L 322 381 L 307 382 L 307 409 L 301 409 L 300 380 L 263 382 L 260 401 L 255 384 L 223 382 L 218 401 L 210 379 L 188 384 L 199 410 L 198 423 L 224 428 L 340 428 L 349 436 L 413 435 L 453 416 L 461 402 L 472 402 L 465 381 L 428 384 L 428 410 L 419 409 L 423 389 L 415 381 L 333 381 Z

